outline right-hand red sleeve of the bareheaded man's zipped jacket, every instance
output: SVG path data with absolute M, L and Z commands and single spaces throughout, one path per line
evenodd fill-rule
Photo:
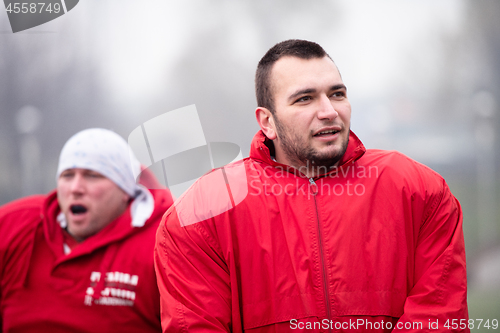
M 413 282 L 394 332 L 469 332 L 462 211 L 444 180 L 428 207 L 416 230 Z

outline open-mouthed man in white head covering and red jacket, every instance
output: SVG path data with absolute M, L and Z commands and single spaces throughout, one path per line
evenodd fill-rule
M 161 330 L 152 254 L 172 197 L 139 173 L 119 135 L 84 130 L 55 191 L 0 208 L 0 332 Z

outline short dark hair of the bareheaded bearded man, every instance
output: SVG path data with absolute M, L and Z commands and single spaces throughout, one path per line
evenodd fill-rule
M 255 73 L 255 95 L 257 106 L 264 107 L 274 114 L 274 99 L 271 87 L 271 70 L 273 65 L 283 57 L 297 57 L 313 59 L 331 57 L 325 50 L 314 42 L 301 39 L 289 39 L 274 45 L 260 59 Z

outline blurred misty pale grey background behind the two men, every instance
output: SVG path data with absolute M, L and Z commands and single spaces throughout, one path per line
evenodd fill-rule
M 53 189 L 75 132 L 127 138 L 191 104 L 207 141 L 247 156 L 258 60 L 309 39 L 337 63 L 365 145 L 447 180 L 464 213 L 470 317 L 500 319 L 498 17 L 497 0 L 81 0 L 13 34 L 0 9 L 0 204 Z

